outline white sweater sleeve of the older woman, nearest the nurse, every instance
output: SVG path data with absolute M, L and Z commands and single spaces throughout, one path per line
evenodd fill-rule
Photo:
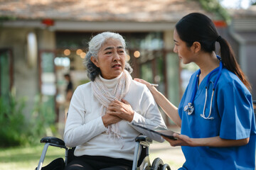
M 129 124 L 134 123 L 150 129 L 167 129 L 164 123 L 164 119 L 162 118 L 159 108 L 156 102 L 154 101 L 154 97 L 150 93 L 149 89 L 144 88 L 142 98 L 139 102 L 140 111 L 134 111 L 134 118 L 132 122 Z M 138 128 L 135 126 L 133 126 L 133 128 L 141 132 L 142 134 L 151 137 L 152 140 L 164 142 L 164 139 L 160 135 L 156 135 L 153 132 L 149 132 L 148 130 L 143 130 L 142 128 Z

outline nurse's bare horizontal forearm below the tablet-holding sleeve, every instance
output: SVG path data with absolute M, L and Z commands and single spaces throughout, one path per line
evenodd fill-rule
M 242 145 L 247 145 L 250 138 L 245 138 L 242 140 L 224 140 L 218 137 L 208 137 L 208 138 L 195 138 L 193 139 L 193 147 L 239 147 Z

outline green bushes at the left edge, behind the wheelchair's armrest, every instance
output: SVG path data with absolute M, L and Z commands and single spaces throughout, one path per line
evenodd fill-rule
M 0 97 L 0 147 L 36 144 L 41 137 L 53 135 L 55 112 L 49 103 L 53 102 L 41 102 L 41 97 L 36 96 L 35 108 L 29 118 L 25 118 L 25 98 L 17 99 L 14 94 L 9 98 Z

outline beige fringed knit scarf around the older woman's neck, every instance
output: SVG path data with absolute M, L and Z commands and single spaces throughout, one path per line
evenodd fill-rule
M 100 115 L 105 115 L 107 112 L 107 107 L 110 103 L 114 100 L 121 101 L 127 91 L 129 90 L 129 85 L 132 82 L 132 77 L 124 69 L 122 76 L 117 79 L 117 84 L 114 86 L 112 91 L 108 91 L 107 86 L 101 81 L 100 77 L 96 77 L 95 81 L 92 81 L 92 91 L 94 96 L 97 98 L 98 101 L 102 104 L 100 108 Z M 107 134 L 112 135 L 119 139 L 122 139 L 120 132 L 119 132 L 119 123 L 115 123 L 112 125 L 108 125 L 107 127 Z

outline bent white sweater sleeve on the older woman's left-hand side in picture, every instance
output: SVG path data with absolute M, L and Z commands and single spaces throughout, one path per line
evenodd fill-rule
M 67 147 L 82 145 L 92 139 L 92 137 L 106 131 L 102 117 L 92 119 L 85 123 L 86 109 L 83 103 L 85 100 L 84 93 L 80 86 L 78 86 L 70 101 L 64 132 L 64 141 Z

